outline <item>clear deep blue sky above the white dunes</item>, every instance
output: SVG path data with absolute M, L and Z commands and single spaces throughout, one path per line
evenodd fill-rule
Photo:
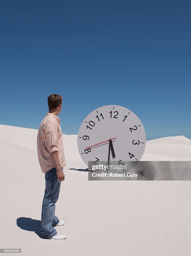
M 190 132 L 190 1 L 1 1 L 0 124 L 38 129 L 63 96 L 64 134 L 122 105 L 147 140 Z

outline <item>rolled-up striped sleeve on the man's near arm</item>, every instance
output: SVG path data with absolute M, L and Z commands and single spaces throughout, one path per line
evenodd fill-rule
M 51 153 L 58 151 L 58 126 L 55 122 L 49 122 L 45 130 L 46 147 Z

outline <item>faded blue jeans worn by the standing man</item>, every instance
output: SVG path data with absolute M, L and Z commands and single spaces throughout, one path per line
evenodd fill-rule
M 63 170 L 63 167 L 61 167 Z M 59 220 L 55 216 L 55 204 L 59 197 L 61 181 L 57 180 L 56 168 L 50 169 L 45 173 L 45 191 L 42 202 L 41 214 L 41 237 L 50 239 L 57 234 L 54 228 Z

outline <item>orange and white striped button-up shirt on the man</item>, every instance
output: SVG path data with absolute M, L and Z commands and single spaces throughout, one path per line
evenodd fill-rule
M 60 118 L 53 113 L 46 113 L 37 135 L 37 153 L 43 173 L 55 167 L 50 156 L 53 151 L 58 151 L 61 167 L 66 167 Z

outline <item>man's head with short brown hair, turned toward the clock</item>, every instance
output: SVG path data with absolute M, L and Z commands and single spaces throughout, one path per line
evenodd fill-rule
M 51 94 L 48 98 L 49 112 L 57 112 L 58 114 L 62 110 L 62 99 L 63 97 L 58 94 Z

